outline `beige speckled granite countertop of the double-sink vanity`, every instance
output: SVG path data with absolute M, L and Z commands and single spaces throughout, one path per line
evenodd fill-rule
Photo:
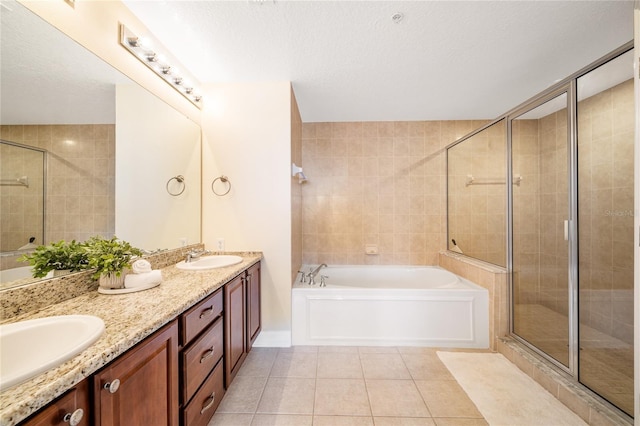
M 237 265 L 208 271 L 162 268 L 158 287 L 120 295 L 97 291 L 28 312 L 11 319 L 24 321 L 55 315 L 95 315 L 105 323 L 103 335 L 61 366 L 0 393 L 0 426 L 12 426 L 35 413 L 75 384 L 169 323 L 240 272 L 260 261 L 260 253 L 242 253 Z

